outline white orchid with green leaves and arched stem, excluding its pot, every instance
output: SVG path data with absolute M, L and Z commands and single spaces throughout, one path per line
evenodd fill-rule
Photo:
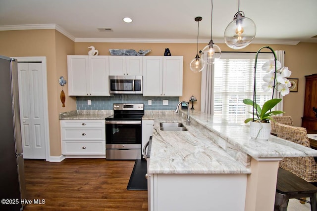
M 272 91 L 272 99 L 267 100 L 263 107 L 261 108 L 259 104 L 256 103 L 256 69 L 257 69 L 257 60 L 258 60 L 258 54 L 263 48 L 268 48 L 272 51 L 274 55 L 274 60 L 269 60 L 268 62 L 265 62 L 262 66 L 262 70 L 266 71 L 267 74 L 263 77 L 264 84 L 262 85 L 262 88 L 264 91 Z M 272 116 L 277 114 L 284 113 L 283 111 L 271 111 L 271 109 L 276 106 L 282 99 L 273 98 L 274 97 L 274 90 L 281 93 L 282 96 L 285 96 L 289 93 L 289 87 L 291 86 L 291 83 L 286 77 L 289 77 L 291 75 L 291 71 L 288 70 L 287 67 L 282 67 L 281 63 L 276 60 L 275 52 L 272 48 L 269 46 L 264 46 L 258 50 L 256 54 L 256 60 L 254 65 L 254 90 L 253 90 L 253 101 L 250 99 L 244 99 L 243 103 L 246 105 L 253 106 L 253 112 L 250 112 L 253 114 L 253 118 L 248 118 L 244 122 L 248 123 L 250 121 L 253 122 L 261 122 L 261 123 L 269 123 L 269 120 Z

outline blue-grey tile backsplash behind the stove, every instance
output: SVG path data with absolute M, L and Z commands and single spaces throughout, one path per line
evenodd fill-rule
M 152 105 L 148 105 L 148 100 L 152 100 Z M 167 100 L 168 105 L 163 105 L 163 100 Z M 175 110 L 178 102 L 179 97 L 144 97 L 142 94 L 76 97 L 77 110 L 112 110 L 113 103 L 144 103 L 144 110 Z

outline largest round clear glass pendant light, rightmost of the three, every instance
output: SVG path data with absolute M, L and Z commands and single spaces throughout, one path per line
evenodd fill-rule
M 224 31 L 224 42 L 232 49 L 241 49 L 253 41 L 256 32 L 257 27 L 253 20 L 246 18 L 244 12 L 240 11 L 239 0 L 238 12 Z

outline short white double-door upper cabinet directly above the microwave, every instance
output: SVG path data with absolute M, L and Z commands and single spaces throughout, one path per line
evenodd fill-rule
M 143 56 L 109 56 L 110 76 L 142 76 Z

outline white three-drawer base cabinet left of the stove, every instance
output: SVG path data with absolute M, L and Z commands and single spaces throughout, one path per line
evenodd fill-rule
M 105 120 L 61 120 L 63 155 L 106 157 Z

